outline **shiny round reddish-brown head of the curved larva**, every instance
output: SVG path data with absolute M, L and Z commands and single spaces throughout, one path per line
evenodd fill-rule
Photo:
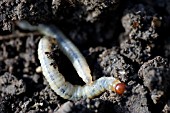
M 126 89 L 125 83 L 118 83 L 118 84 L 116 84 L 114 91 L 117 94 L 122 95 L 124 93 L 125 89 Z

